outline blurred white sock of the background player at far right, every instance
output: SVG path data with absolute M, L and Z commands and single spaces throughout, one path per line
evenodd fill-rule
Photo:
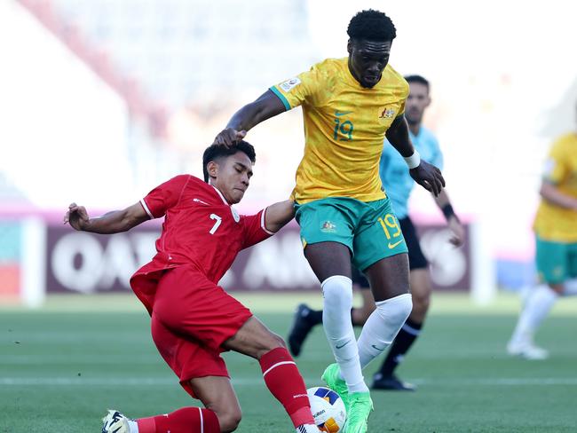
M 559 295 L 546 284 L 535 287 L 526 300 L 523 311 L 519 315 L 517 327 L 511 336 L 511 342 L 531 341 L 537 327 L 549 310 L 553 307 Z

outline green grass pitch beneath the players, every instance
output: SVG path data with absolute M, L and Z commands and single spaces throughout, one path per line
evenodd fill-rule
M 302 298 L 302 296 L 301 296 Z M 265 324 L 286 335 L 296 295 L 245 295 Z M 304 295 L 320 302 L 320 295 Z M 435 295 L 423 335 L 399 368 L 415 393 L 373 392 L 370 432 L 569 432 L 577 429 L 577 303 L 561 300 L 538 337 L 547 361 L 509 358 L 515 296 L 489 307 Z M 297 364 L 307 386 L 331 362 L 322 329 Z M 291 432 L 255 360 L 225 354 L 243 409 L 239 432 Z M 378 362 L 368 367 L 370 380 Z M 40 311 L 0 307 L 0 432 L 99 432 L 107 408 L 131 417 L 198 402 L 154 348 L 134 297 L 52 297 Z

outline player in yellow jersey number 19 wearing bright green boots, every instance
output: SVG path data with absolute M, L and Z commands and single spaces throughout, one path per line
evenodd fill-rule
M 321 282 L 323 327 L 336 364 L 322 378 L 347 408 L 347 433 L 367 431 L 372 401 L 361 369 L 392 342 L 412 308 L 407 245 L 379 177 L 383 139 L 411 176 L 437 195 L 445 181 L 421 161 L 403 115 L 408 84 L 389 63 L 396 29 L 383 12 L 356 14 L 348 58 L 326 59 L 243 106 L 215 142 L 231 146 L 258 123 L 303 106 L 304 157 L 296 171 L 296 221 Z M 368 277 L 376 309 L 359 341 L 351 323 L 351 262 Z

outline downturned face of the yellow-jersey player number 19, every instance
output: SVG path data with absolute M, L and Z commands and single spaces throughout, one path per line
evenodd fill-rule
M 391 44 L 391 41 L 349 40 L 349 70 L 361 86 L 370 89 L 379 82 L 383 69 L 389 63 Z

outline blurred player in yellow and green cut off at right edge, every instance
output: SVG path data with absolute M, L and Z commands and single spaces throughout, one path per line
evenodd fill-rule
M 559 296 L 577 295 L 577 130 L 549 152 L 535 216 L 536 263 L 541 285 L 528 295 L 507 350 L 527 359 L 548 358 L 533 335 Z

